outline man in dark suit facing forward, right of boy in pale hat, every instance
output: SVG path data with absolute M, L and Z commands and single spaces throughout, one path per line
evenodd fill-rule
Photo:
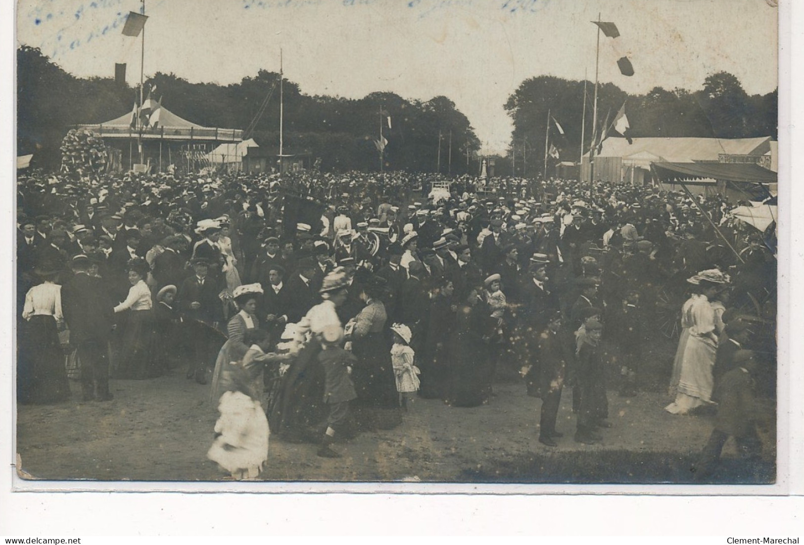
M 218 329 L 219 322 L 224 318 L 224 307 L 218 297 L 221 291 L 219 285 L 208 277 L 209 262 L 198 258 L 192 264 L 195 274 L 182 282 L 176 304 L 190 318 L 187 346 L 191 350 L 191 362 L 187 368 L 187 378 L 195 377 L 195 382 L 205 384 L 207 367 L 215 346 L 220 348 L 220 338 L 213 331 Z

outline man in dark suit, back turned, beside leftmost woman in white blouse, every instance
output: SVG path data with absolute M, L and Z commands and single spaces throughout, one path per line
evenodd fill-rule
M 81 391 L 84 401 L 112 399 L 109 392 L 109 339 L 114 323 L 114 303 L 104 282 L 87 273 L 87 256 L 72 259 L 76 273 L 61 288 L 64 319 L 70 329 L 70 343 L 81 362 Z

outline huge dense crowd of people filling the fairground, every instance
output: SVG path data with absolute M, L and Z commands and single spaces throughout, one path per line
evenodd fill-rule
M 430 199 L 433 182 L 449 198 Z M 396 427 L 419 397 L 493 404 L 495 377 L 519 374 L 543 445 L 562 436 L 564 385 L 574 439 L 593 444 L 609 387 L 644 383 L 662 294 L 679 294 L 681 326 L 667 411 L 715 407 L 746 361 L 737 309 L 772 315 L 757 301 L 773 304 L 776 275 L 736 204 L 404 172 L 22 175 L 17 399 L 67 400 L 70 376 L 106 401 L 109 379 L 180 370 L 219 408 L 211 459 L 254 477 L 269 428 L 337 457 L 336 439 Z

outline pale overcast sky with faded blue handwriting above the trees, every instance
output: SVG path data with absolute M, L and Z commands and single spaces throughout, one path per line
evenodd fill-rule
M 308 94 L 347 97 L 392 91 L 445 95 L 469 117 L 485 150 L 504 150 L 503 104 L 532 76 L 600 80 L 627 92 L 702 87 L 735 74 L 749 93 L 777 87 L 777 9 L 770 0 L 147 0 L 146 77 L 174 72 L 229 84 L 278 70 Z M 40 47 L 76 76 L 114 74 L 127 61 L 139 80 L 140 47 L 121 35 L 138 0 L 21 0 L 18 43 Z M 114 27 L 115 24 L 119 26 Z M 129 47 L 126 48 L 126 43 Z M 616 49 L 615 49 L 616 47 Z M 617 50 L 636 72 L 621 76 Z M 166 96 L 166 104 L 180 97 Z M 578 105 L 581 107 L 581 104 Z M 121 112 L 122 113 L 122 112 Z

